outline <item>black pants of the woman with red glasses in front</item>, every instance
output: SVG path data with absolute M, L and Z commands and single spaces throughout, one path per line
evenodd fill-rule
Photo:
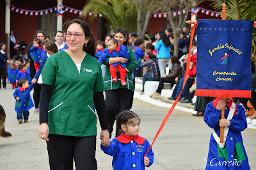
M 72 170 L 73 158 L 77 170 L 97 169 L 96 136 L 74 137 L 50 134 L 47 150 L 52 170 Z

